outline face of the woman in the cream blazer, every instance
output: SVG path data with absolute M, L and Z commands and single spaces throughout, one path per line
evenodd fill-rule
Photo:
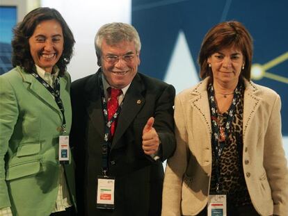
M 207 63 L 211 64 L 214 82 L 233 84 L 238 83 L 244 59 L 239 49 L 230 47 L 213 53 Z

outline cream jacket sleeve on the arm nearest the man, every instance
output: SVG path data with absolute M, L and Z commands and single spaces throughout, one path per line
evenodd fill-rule
M 177 146 L 174 155 L 168 159 L 163 183 L 162 215 L 165 216 L 181 215 L 182 179 L 189 154 L 184 117 L 181 101 L 176 97 L 174 119 Z

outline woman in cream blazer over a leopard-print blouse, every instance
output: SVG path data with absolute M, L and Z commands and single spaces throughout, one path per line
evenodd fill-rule
M 199 54 L 198 85 L 175 99 L 177 149 L 168 159 L 162 215 L 287 215 L 280 97 L 250 81 L 252 38 L 217 24 Z

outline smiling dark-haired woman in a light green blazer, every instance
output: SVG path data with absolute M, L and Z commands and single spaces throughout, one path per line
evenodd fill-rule
M 12 46 L 15 68 L 0 76 L 0 215 L 72 215 L 66 66 L 74 37 L 57 10 L 37 8 Z

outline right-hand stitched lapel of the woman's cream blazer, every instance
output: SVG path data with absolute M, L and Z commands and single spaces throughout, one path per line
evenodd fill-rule
M 246 131 L 251 126 L 252 119 L 256 113 L 262 99 L 257 97 L 257 86 L 254 83 L 244 79 L 245 92 L 244 92 L 244 110 L 243 110 L 243 140 L 246 139 Z

